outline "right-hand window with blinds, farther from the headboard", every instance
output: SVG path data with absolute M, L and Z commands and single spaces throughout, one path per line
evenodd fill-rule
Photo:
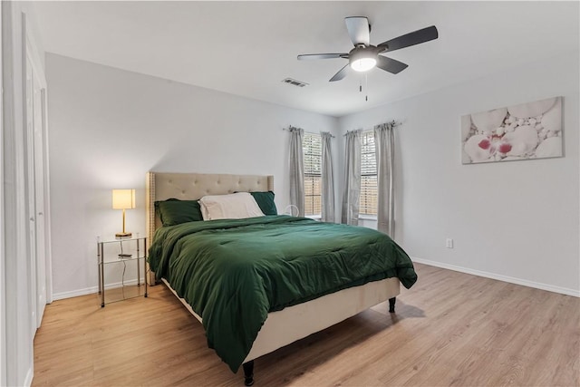
M 361 133 L 361 198 L 359 215 L 377 216 L 377 160 L 374 153 L 374 131 Z

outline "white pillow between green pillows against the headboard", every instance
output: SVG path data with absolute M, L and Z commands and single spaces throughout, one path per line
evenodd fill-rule
M 208 195 L 199 199 L 204 220 L 264 217 L 256 199 L 248 192 Z

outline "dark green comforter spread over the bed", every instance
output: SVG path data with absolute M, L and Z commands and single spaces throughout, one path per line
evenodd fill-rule
M 409 256 L 378 231 L 287 216 L 162 227 L 149 261 L 233 372 L 268 312 L 392 276 L 407 288 L 417 280 Z

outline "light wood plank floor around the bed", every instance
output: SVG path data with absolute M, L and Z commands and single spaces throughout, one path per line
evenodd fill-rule
M 578 386 L 580 299 L 416 265 L 396 314 L 377 305 L 256 359 L 256 386 Z M 106 305 L 47 305 L 33 386 L 243 386 L 164 285 Z

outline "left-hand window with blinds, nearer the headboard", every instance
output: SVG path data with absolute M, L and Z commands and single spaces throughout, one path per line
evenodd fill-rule
M 321 215 L 323 144 L 320 134 L 304 133 L 304 214 Z

